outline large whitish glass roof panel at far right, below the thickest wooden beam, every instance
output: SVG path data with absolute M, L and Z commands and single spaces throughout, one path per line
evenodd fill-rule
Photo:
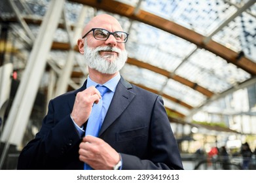
M 197 50 L 177 69 L 176 74 L 215 93 L 224 92 L 232 87 L 232 84 L 250 78 L 246 71 L 204 49 Z

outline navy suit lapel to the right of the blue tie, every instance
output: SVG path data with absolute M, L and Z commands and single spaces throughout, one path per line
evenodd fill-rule
M 134 99 L 135 93 L 131 92 L 130 89 L 132 85 L 126 82 L 122 77 L 120 78 L 119 84 L 117 84 L 117 88 L 111 104 L 109 106 L 109 110 L 107 110 L 107 114 L 105 116 L 105 120 L 101 126 L 99 136 L 111 125 L 115 120 L 124 112 L 126 107 L 130 104 L 132 99 Z

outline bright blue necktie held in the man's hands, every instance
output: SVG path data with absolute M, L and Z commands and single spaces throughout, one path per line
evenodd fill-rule
M 92 112 L 87 122 L 85 136 L 92 135 L 94 137 L 98 137 L 101 124 L 102 124 L 101 110 L 103 105 L 103 95 L 109 91 L 109 88 L 105 86 L 100 86 L 100 85 L 97 85 L 96 88 L 100 92 L 101 99 L 98 104 L 94 104 L 92 107 Z M 92 167 L 84 163 L 84 170 L 91 170 L 91 169 Z

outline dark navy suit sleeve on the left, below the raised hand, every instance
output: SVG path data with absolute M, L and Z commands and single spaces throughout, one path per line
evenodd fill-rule
M 54 102 L 50 101 L 41 130 L 20 153 L 18 169 L 58 169 L 64 162 L 71 161 L 67 157 L 77 154 L 72 149 L 81 142 L 81 137 L 70 113 L 64 112 L 63 116 L 58 117 L 54 109 Z

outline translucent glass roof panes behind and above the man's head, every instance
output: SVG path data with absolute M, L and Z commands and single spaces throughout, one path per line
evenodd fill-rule
M 24 17 L 42 19 L 50 1 L 16 0 L 14 2 Z M 143 10 L 174 22 L 202 35 L 204 39 L 212 39 L 212 41 L 227 47 L 233 52 L 243 52 L 246 58 L 252 63 L 256 63 L 255 1 L 120 0 L 109 2 L 134 7 L 134 14 Z M 7 4 L 7 0 L 3 4 L 5 3 Z M 27 7 L 24 5 L 27 5 Z M 244 8 L 245 6 L 247 8 Z M 15 16 L 11 8 L 0 8 L 0 17 L 3 20 Z M 163 97 L 166 107 L 172 108 L 172 110 L 176 110 L 185 116 L 190 113 L 189 106 L 191 108 L 201 107 L 212 95 L 221 95 L 221 93 L 237 87 L 253 77 L 248 71 L 230 63 L 230 61 L 210 50 L 200 48 L 200 46 L 190 41 L 153 25 L 132 20 L 113 12 L 107 12 L 104 8 L 96 10 L 96 8 L 86 5 L 86 1 L 84 1 L 84 8 L 81 3 L 65 2 L 65 18 L 68 25 L 77 26 L 81 10 L 86 11 L 84 24 L 95 14 L 102 13 L 112 14 L 119 20 L 124 31 L 130 33 L 126 43 L 126 50 L 130 59 L 121 71 L 122 76 L 129 82 L 181 101 L 185 105 L 177 104 L 175 100 L 172 101 L 168 97 Z M 22 26 L 15 24 L 14 27 L 21 28 Z M 39 32 L 39 25 L 29 24 L 29 28 L 36 37 Z M 26 34 L 23 29 L 20 29 L 20 33 Z M 18 37 L 18 35 L 16 36 Z M 54 36 L 54 42 L 69 44 L 67 31 L 58 28 Z M 66 54 L 67 52 L 64 51 L 52 50 L 49 58 L 56 61 L 56 65 L 61 68 L 65 63 Z M 77 60 L 76 63 L 81 65 L 82 58 L 79 55 L 77 53 L 75 59 Z M 74 67 L 74 71 L 79 71 L 78 68 L 77 66 Z M 80 68 L 80 72 L 86 73 L 84 67 Z M 198 87 L 202 88 L 204 92 L 197 90 Z M 210 94 L 206 95 L 206 93 Z

